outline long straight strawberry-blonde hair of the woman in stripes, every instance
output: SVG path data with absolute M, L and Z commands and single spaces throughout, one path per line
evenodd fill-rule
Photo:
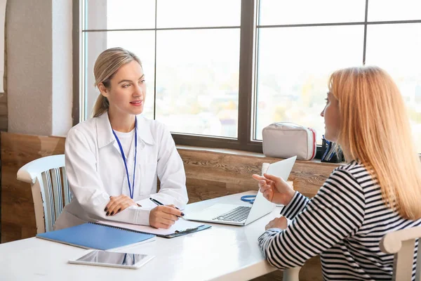
M 338 143 L 377 178 L 388 207 L 421 218 L 421 162 L 392 77 L 380 67 L 346 68 L 330 76 L 329 89 L 339 101 Z

